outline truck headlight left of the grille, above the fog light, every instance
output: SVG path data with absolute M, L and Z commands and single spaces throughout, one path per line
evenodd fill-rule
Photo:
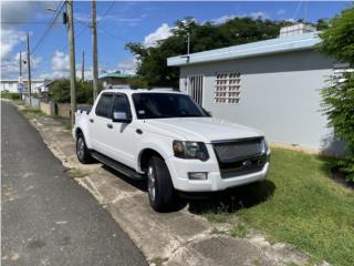
M 209 158 L 207 146 L 202 142 L 174 141 L 173 149 L 176 157 L 198 158 L 200 161 Z

